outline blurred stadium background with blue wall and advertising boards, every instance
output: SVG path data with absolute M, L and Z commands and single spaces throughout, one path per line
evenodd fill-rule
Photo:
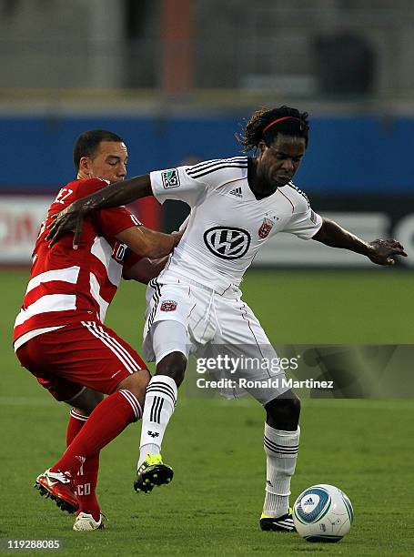
M 124 137 L 134 176 L 236 156 L 253 110 L 282 104 L 310 115 L 313 207 L 413 256 L 413 25 L 410 0 L 0 0 L 0 263 L 29 263 L 86 129 Z M 166 230 L 187 211 L 136 210 Z M 280 235 L 255 264 L 369 265 L 317 244 Z

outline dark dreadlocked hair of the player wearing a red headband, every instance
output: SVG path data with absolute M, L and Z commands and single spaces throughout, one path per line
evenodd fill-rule
M 279 118 L 287 118 L 269 126 Z M 269 127 L 268 127 L 269 126 Z M 268 127 L 268 129 L 266 129 Z M 243 147 L 243 152 L 247 153 L 251 149 L 256 149 L 260 141 L 264 141 L 267 146 L 275 141 L 278 133 L 292 137 L 304 137 L 308 147 L 308 112 L 300 113 L 296 108 L 289 106 L 279 106 L 279 108 L 259 108 L 248 120 L 246 127 L 243 128 L 243 135 L 237 135 L 237 140 Z

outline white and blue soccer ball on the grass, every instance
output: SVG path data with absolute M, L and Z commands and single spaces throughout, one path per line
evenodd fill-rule
M 349 532 L 354 511 L 347 495 L 321 483 L 303 491 L 293 505 L 293 522 L 308 542 L 339 542 Z

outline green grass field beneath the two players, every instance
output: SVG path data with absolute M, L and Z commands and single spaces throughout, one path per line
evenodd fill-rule
M 151 495 L 132 490 L 139 426 L 130 426 L 101 458 L 98 492 L 107 530 L 72 532 L 73 517 L 31 488 L 35 476 L 64 450 L 68 407 L 37 386 L 9 347 L 26 279 L 25 271 L 0 273 L 0 538 L 58 539 L 59 555 L 412 555 L 413 400 L 304 400 L 292 497 L 319 482 L 347 492 L 355 522 L 337 545 L 258 530 L 265 478 L 263 411 L 251 400 L 181 397 L 163 451 L 176 477 Z M 243 286 L 247 303 L 275 343 L 410 344 L 412 282 L 411 274 L 390 269 L 297 269 L 252 271 Z M 138 349 L 144 291 L 123 285 L 107 318 Z

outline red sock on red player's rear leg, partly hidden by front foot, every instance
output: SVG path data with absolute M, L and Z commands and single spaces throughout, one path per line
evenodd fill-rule
M 76 438 L 77 433 L 83 428 L 86 416 L 79 414 L 75 409 L 70 410 L 69 423 L 67 424 L 66 447 Z M 96 499 L 97 472 L 99 470 L 99 453 L 89 457 L 80 467 L 75 476 L 76 499 L 79 501 L 79 512 L 92 514 L 94 520 L 99 522 L 101 510 Z

